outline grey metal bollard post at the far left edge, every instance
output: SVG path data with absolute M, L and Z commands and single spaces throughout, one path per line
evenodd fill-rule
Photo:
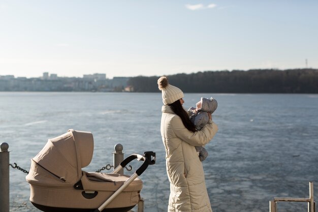
M 9 144 L 0 144 L 0 212 L 9 212 Z

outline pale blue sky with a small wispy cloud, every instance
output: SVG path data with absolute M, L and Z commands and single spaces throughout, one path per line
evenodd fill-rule
M 316 0 L 0 0 L 0 75 L 318 68 Z

